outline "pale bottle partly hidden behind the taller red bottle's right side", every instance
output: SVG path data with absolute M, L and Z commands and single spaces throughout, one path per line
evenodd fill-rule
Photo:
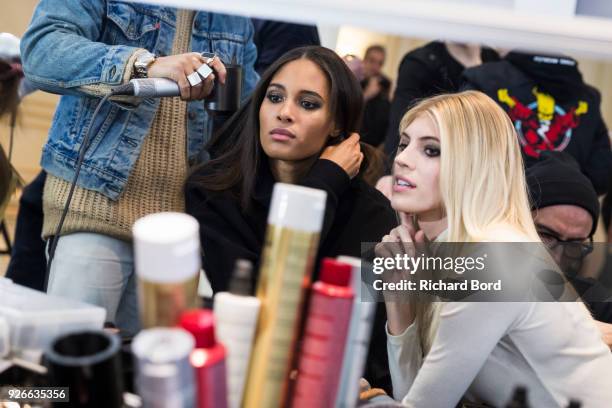
M 352 266 L 351 286 L 355 293 L 335 404 L 336 408 L 348 408 L 356 406 L 359 398 L 359 379 L 363 376 L 368 357 L 376 303 L 361 301 L 361 259 L 350 256 L 339 256 L 337 259 Z

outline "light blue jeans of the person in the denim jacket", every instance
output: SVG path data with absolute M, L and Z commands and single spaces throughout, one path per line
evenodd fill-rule
M 106 309 L 106 321 L 123 336 L 140 329 L 134 258 L 130 243 L 79 232 L 60 237 L 47 293 Z

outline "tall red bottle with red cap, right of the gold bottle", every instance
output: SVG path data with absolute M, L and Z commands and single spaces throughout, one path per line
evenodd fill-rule
M 334 406 L 353 307 L 350 282 L 350 265 L 323 259 L 319 280 L 312 285 L 293 408 Z

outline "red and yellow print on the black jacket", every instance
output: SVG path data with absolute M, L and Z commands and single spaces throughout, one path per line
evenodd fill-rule
M 519 135 L 523 152 L 537 158 L 544 150 L 564 150 L 572 138 L 572 129 L 580 125 L 580 116 L 589 110 L 588 103 L 578 101 L 578 106 L 565 111 L 549 94 L 532 90 L 535 100 L 523 104 L 508 93 L 497 90 L 497 99 L 505 104 L 510 119 Z

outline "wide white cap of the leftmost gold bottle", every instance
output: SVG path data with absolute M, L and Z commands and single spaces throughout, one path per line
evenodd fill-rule
M 136 273 L 156 283 L 184 282 L 200 271 L 200 226 L 187 214 L 164 212 L 134 223 Z

